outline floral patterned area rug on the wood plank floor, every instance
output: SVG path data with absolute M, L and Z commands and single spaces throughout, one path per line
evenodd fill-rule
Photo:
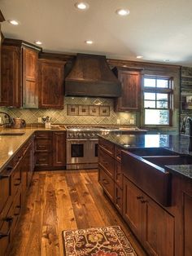
M 63 231 L 65 256 L 135 256 L 119 226 Z

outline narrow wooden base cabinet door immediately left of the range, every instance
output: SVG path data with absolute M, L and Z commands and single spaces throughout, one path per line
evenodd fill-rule
M 55 131 L 53 132 L 53 166 L 66 165 L 66 132 Z

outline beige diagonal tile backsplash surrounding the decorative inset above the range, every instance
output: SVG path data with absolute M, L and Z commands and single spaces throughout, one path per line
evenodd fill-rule
M 110 107 L 108 117 L 95 116 L 68 116 L 68 104 L 104 105 Z M 65 97 L 64 109 L 23 109 L 23 108 L 0 108 L 0 111 L 9 113 L 11 117 L 19 117 L 26 123 L 37 123 L 38 117 L 51 117 L 53 124 L 91 124 L 91 125 L 135 125 L 136 113 L 114 112 L 114 99 Z

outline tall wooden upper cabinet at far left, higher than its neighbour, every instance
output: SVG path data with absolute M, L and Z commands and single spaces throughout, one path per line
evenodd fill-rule
M 41 48 L 21 40 L 2 44 L 2 106 L 38 108 L 38 52 Z

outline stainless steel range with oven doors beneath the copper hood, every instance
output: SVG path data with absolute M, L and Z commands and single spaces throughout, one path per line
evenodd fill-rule
M 104 127 L 66 126 L 67 170 L 98 167 L 98 134 L 106 134 Z

